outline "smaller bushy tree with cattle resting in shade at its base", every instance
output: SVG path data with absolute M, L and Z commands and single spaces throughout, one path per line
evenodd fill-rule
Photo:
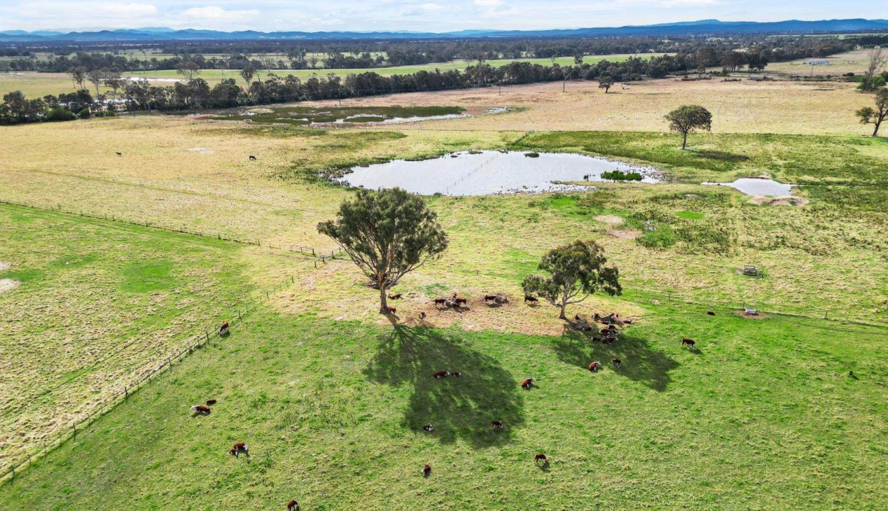
M 598 291 L 611 296 L 622 293 L 620 271 L 605 263 L 604 248 L 595 241 L 576 240 L 543 255 L 538 268 L 548 275 L 527 275 L 521 287 L 525 295 L 539 295 L 559 307 L 559 318 L 567 319 L 565 309 L 571 303 L 583 302 Z

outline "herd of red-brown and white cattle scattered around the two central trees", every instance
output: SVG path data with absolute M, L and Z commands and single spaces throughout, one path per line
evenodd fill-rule
M 400 295 L 400 293 L 397 295 L 388 295 L 388 298 L 390 300 L 398 300 L 401 298 L 401 295 Z M 525 303 L 527 303 L 527 302 L 536 303 L 539 300 L 537 298 L 535 298 L 534 296 L 525 296 L 524 301 L 525 301 Z M 484 302 L 485 303 L 501 304 L 501 303 L 508 303 L 509 299 L 506 296 L 500 295 L 500 294 L 485 295 Z M 444 305 L 447 308 L 459 309 L 459 308 L 463 307 L 464 305 L 466 305 L 466 303 L 468 303 L 468 300 L 466 298 L 461 298 L 461 297 L 457 296 L 456 293 L 454 293 L 453 295 L 451 295 L 448 298 L 434 299 L 434 304 L 436 307 L 438 307 L 439 305 Z M 389 311 L 393 314 L 396 312 L 396 309 L 394 307 L 389 307 Z M 715 313 L 712 311 L 707 311 L 707 314 L 710 316 L 715 316 Z M 425 312 L 420 312 L 419 318 L 424 319 Z M 575 315 L 574 321 L 575 322 L 573 324 L 573 327 L 576 330 L 580 330 L 583 332 L 591 332 L 591 331 L 596 330 L 596 328 L 593 328 L 590 325 L 590 321 L 583 319 L 582 317 L 580 317 L 579 314 Z M 615 312 L 607 314 L 606 316 L 601 316 L 598 313 L 596 313 L 592 316 L 591 321 L 599 322 L 601 324 L 607 325 L 603 328 L 597 329 L 598 330 L 597 334 L 593 334 L 591 337 L 593 341 L 601 342 L 602 344 L 612 344 L 612 343 L 616 342 L 617 336 L 619 336 L 621 334 L 621 332 L 617 328 L 617 326 L 618 325 L 619 326 L 631 325 L 633 322 L 633 320 L 629 319 L 629 318 L 621 319 L 620 315 Z M 218 333 L 220 335 L 226 335 L 226 334 L 228 334 L 228 328 L 229 328 L 228 322 L 225 321 L 224 323 L 222 323 L 221 326 L 219 326 Z M 681 339 L 682 346 L 688 346 L 691 349 L 694 349 L 694 344 L 695 344 L 695 342 L 693 339 L 688 339 L 687 337 L 682 337 L 682 339 Z M 619 358 L 614 358 L 613 360 L 611 360 L 611 363 L 614 365 L 614 368 L 616 368 L 616 369 L 619 369 L 622 366 L 622 360 Z M 602 366 L 601 362 L 599 362 L 598 360 L 591 362 L 591 364 L 589 365 L 589 371 L 591 373 L 598 373 L 599 370 L 602 368 L 603 368 L 603 366 Z M 434 373 L 432 373 L 432 378 L 434 378 L 436 380 L 441 379 L 441 378 L 448 378 L 448 377 L 460 378 L 462 376 L 463 376 L 463 373 L 461 373 L 459 371 L 451 372 L 448 369 L 442 369 L 440 371 L 435 371 Z M 520 387 L 521 387 L 521 389 L 525 389 L 525 390 L 532 389 L 534 387 L 535 381 L 536 381 L 536 379 L 533 377 L 526 378 L 525 380 L 521 381 Z M 206 402 L 206 405 L 192 406 L 191 411 L 194 413 L 195 416 L 196 415 L 209 415 L 210 411 L 211 411 L 210 406 L 215 405 L 215 404 L 216 404 L 216 399 L 210 399 Z M 505 424 L 503 423 L 503 421 L 490 421 L 490 427 L 493 428 L 494 430 L 501 430 L 501 429 L 505 428 Z M 423 426 L 423 430 L 428 433 L 431 433 L 432 431 L 434 431 L 434 429 L 435 428 L 432 424 L 426 424 Z M 249 457 L 250 456 L 250 448 L 245 442 L 235 442 L 232 445 L 231 449 L 228 451 L 228 453 L 233 455 L 235 458 L 240 457 L 241 454 L 244 454 Z M 549 460 L 548 460 L 548 458 L 546 458 L 546 455 L 541 452 L 541 453 L 538 453 L 534 456 L 534 463 L 537 466 L 545 468 L 545 467 L 548 467 Z M 426 476 L 426 477 L 430 476 L 432 474 L 432 465 L 429 463 L 426 463 L 422 468 L 422 474 L 423 474 L 423 476 Z M 287 502 L 287 510 L 288 511 L 297 511 L 298 509 L 299 509 L 299 503 L 297 502 L 296 499 L 291 499 L 289 502 Z

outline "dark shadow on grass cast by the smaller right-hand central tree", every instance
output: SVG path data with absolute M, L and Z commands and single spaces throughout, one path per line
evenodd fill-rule
M 638 381 L 657 392 L 665 390 L 671 381 L 669 372 L 678 362 L 662 351 L 651 348 L 646 340 L 622 334 L 614 344 L 592 341 L 591 336 L 565 330 L 553 345 L 562 362 L 588 368 L 591 362 L 600 361 L 607 370 Z M 614 358 L 622 360 L 622 366 L 614 367 Z

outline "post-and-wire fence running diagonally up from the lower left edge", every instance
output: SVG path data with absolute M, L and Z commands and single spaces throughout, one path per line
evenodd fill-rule
M 0 202 L 4 202 L 0 200 Z M 329 256 L 327 257 L 329 258 Z M 315 261 L 315 267 L 317 267 L 317 261 Z M 258 307 L 258 304 L 267 303 L 271 300 L 271 293 L 277 293 L 281 289 L 285 289 L 296 282 L 296 277 L 290 276 L 288 279 L 285 279 L 283 283 L 279 286 L 273 286 L 266 290 L 260 290 L 258 293 L 258 300 L 254 300 L 253 298 L 247 298 L 242 302 L 243 309 L 241 309 L 241 305 L 238 305 L 234 308 L 233 311 L 229 311 L 231 318 L 225 319 L 223 321 L 228 322 L 228 327 L 231 329 L 235 325 L 239 325 L 244 321 L 244 318 L 249 315 L 250 311 L 255 311 Z M 18 463 L 11 463 L 10 467 L 4 471 L 2 475 L 0 475 L 0 484 L 6 483 L 7 481 L 11 481 L 15 478 L 17 473 L 20 473 L 23 469 L 30 467 L 34 464 L 35 461 L 42 459 L 44 456 L 49 454 L 50 452 L 58 449 L 62 444 L 65 444 L 68 440 L 76 439 L 77 431 L 83 430 L 83 428 L 88 427 L 93 421 L 96 421 L 100 417 L 104 416 L 106 413 L 110 412 L 115 408 L 116 405 L 120 405 L 123 401 L 126 401 L 130 398 L 130 396 L 145 386 L 145 384 L 149 381 L 154 380 L 158 375 L 162 374 L 164 371 L 172 371 L 174 364 L 179 364 L 185 358 L 190 355 L 194 350 L 201 350 L 207 345 L 211 345 L 212 342 L 217 338 L 225 338 L 226 335 L 222 335 L 218 330 L 206 330 L 203 329 L 197 334 L 191 335 L 190 342 L 186 343 L 181 350 L 178 350 L 176 353 L 171 353 L 166 356 L 165 359 L 161 359 L 157 364 L 149 369 L 147 373 L 142 374 L 136 381 L 131 381 L 129 383 L 125 383 L 123 385 L 123 390 L 113 390 L 110 394 L 110 397 L 105 400 L 104 403 L 101 403 L 97 408 L 92 409 L 87 413 L 86 418 L 81 418 L 79 420 L 71 421 L 71 428 L 67 429 L 67 432 L 57 437 L 50 444 L 44 445 L 39 448 L 36 452 L 29 452 L 27 455 L 21 457 Z

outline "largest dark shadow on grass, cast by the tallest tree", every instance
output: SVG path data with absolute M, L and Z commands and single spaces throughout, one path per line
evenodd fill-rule
M 445 370 L 462 376 L 432 377 Z M 381 337 L 364 374 L 394 387 L 412 385 L 403 424 L 442 443 L 462 439 L 475 448 L 505 444 L 509 430 L 524 421 L 524 399 L 511 373 L 496 359 L 433 328 L 395 326 L 392 334 Z M 491 421 L 503 421 L 505 428 L 493 429 Z M 434 430 L 426 433 L 425 424 Z

